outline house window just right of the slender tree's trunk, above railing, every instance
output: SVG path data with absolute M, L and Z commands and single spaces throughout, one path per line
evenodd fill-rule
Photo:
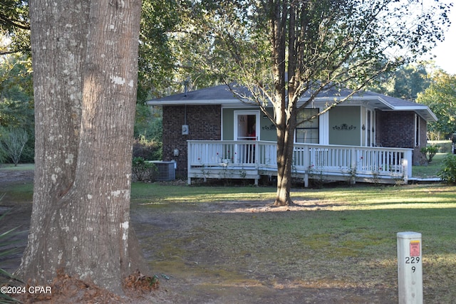
M 317 115 L 319 109 L 304 109 L 298 113 L 298 122 L 308 119 L 314 115 Z M 318 117 L 313 120 L 308 120 L 298 127 L 296 127 L 296 142 L 303 144 L 318 144 L 319 140 L 319 119 Z

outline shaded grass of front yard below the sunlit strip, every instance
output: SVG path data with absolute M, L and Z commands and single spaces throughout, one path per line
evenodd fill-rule
M 417 231 L 425 301 L 456 298 L 455 206 L 335 210 L 343 204 L 300 203 L 296 209 L 269 209 L 266 201 L 137 206 L 133 224 L 152 269 L 190 279 L 191 293 L 222 301 L 233 292 L 259 299 L 259 290 L 271 295 L 277 288 L 298 300 L 320 290 L 316 303 L 344 303 L 338 298 L 344 292 L 350 303 L 397 302 L 396 234 Z

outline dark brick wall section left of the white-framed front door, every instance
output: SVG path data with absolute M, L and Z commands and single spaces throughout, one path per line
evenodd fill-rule
M 177 162 L 176 177 L 187 178 L 187 140 L 221 140 L 220 105 L 164 105 L 163 160 Z M 182 135 L 182 125 L 189 135 Z M 173 152 L 179 150 L 179 156 Z

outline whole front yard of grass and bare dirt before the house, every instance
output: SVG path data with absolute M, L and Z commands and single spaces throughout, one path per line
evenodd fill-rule
M 30 220 L 31 175 L 18 174 L 21 179 L 11 182 L 14 174 L 4 170 L 1 205 L 11 209 L 9 224 L 24 229 Z M 159 298 L 142 300 L 397 303 L 396 234 L 401 231 L 423 234 L 425 303 L 456 298 L 456 187 L 300 188 L 291 193 L 299 206 L 271 208 L 275 193 L 274 187 L 134 183 L 132 223 L 161 290 Z M 20 256 L 7 262 L 18 266 Z

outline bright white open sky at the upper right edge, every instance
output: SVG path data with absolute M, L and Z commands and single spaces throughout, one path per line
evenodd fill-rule
M 445 70 L 447 73 L 456 75 L 456 3 L 453 2 L 451 8 L 450 29 L 445 33 L 445 41 L 437 43 L 431 53 L 435 56 L 435 65 Z

